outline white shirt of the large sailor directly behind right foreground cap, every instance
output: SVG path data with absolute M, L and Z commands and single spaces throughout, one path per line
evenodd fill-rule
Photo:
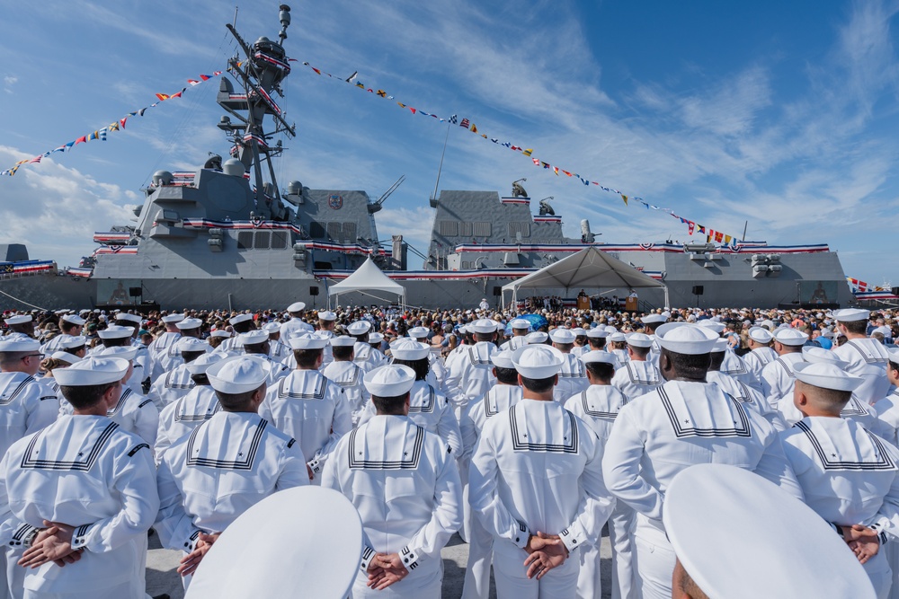
M 697 463 L 727 463 L 755 471 L 801 498 L 779 438 L 755 411 L 715 384 L 668 381 L 624 406 L 605 446 L 606 485 L 657 529 L 665 490 L 674 476 Z

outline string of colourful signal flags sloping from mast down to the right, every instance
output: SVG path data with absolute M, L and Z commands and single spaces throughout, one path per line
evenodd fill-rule
M 376 92 L 372 88 L 366 86 L 365 84 L 362 84 L 358 80 L 358 75 L 359 75 L 358 71 L 356 73 L 354 73 L 350 78 L 345 78 L 345 77 L 340 77 L 337 75 L 331 75 L 327 71 L 324 71 L 320 68 L 316 68 L 315 66 L 312 66 L 307 62 L 304 62 L 303 66 L 308 66 L 309 69 L 312 70 L 316 75 L 328 77 L 329 79 L 334 79 L 334 81 L 339 81 L 344 84 L 350 84 L 353 87 L 358 87 L 360 90 L 370 92 L 372 94 L 376 94 Z M 385 92 L 384 90 L 379 89 L 377 91 L 377 95 L 381 98 L 386 98 L 388 100 L 395 101 L 397 106 L 399 106 L 402 109 L 406 109 L 406 108 L 409 109 L 409 111 L 412 114 L 420 114 L 425 117 L 432 117 L 434 119 L 437 119 L 441 123 L 446 122 L 446 123 L 449 123 L 450 125 L 457 125 L 458 127 L 467 129 L 468 131 L 471 131 L 472 133 L 476 133 L 479 137 L 483 137 L 484 139 L 487 139 L 496 145 L 502 145 L 503 147 L 507 147 L 507 148 L 511 149 L 513 152 L 519 152 L 521 154 L 524 154 L 525 156 L 530 157 L 531 161 L 534 163 L 535 166 L 539 166 L 541 168 L 551 170 L 552 172 L 554 172 L 556 174 L 556 177 L 559 176 L 559 172 L 563 172 L 565 174 L 565 176 L 571 177 L 572 179 L 577 179 L 578 181 L 582 182 L 584 185 L 595 185 L 596 187 L 602 189 L 603 191 L 605 191 L 607 193 L 613 193 L 613 194 L 619 196 L 624 201 L 626 206 L 629 206 L 628 205 L 629 200 L 633 200 L 635 202 L 638 202 L 640 205 L 645 207 L 647 210 L 657 210 L 660 212 L 664 212 L 665 214 L 669 214 L 675 218 L 678 218 L 681 220 L 681 223 L 683 225 L 686 225 L 687 233 L 689 233 L 690 235 L 693 235 L 694 233 L 706 234 L 708 242 L 711 242 L 711 240 L 715 240 L 716 242 L 724 243 L 725 245 L 731 245 L 731 244 L 741 241 L 740 238 L 736 235 L 727 235 L 725 233 L 719 234 L 719 232 L 717 232 L 717 231 L 714 231 L 712 229 L 707 229 L 707 227 L 705 227 L 704 225 L 699 225 L 699 223 L 697 223 L 696 221 L 678 216 L 678 215 L 674 214 L 674 211 L 671 208 L 654 206 L 653 204 L 650 204 L 649 202 L 647 202 L 644 198 L 626 194 L 623 191 L 620 191 L 619 189 L 615 189 L 613 187 L 603 185 L 599 181 L 592 181 L 589 178 L 584 177 L 576 172 L 566 171 L 565 169 L 563 169 L 559 166 L 556 166 L 552 163 L 547 163 L 546 161 L 539 160 L 539 158 L 536 158 L 532 155 L 534 152 L 533 148 L 525 148 L 520 145 L 512 145 L 511 142 L 500 142 L 498 137 L 487 137 L 485 135 L 485 133 L 481 132 L 480 129 L 478 129 L 476 127 L 476 125 L 471 121 L 471 119 L 459 117 L 456 114 L 451 115 L 448 119 L 441 119 L 441 117 L 439 117 L 436 114 L 433 114 L 431 112 L 425 112 L 424 110 L 421 110 L 418 108 L 413 108 L 412 106 L 409 106 L 408 104 L 405 104 L 401 101 L 396 101 L 396 98 L 394 96 L 387 94 L 387 92 Z

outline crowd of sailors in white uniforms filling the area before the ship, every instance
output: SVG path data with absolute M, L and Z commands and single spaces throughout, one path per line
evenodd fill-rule
M 58 594 L 73 583 L 85 597 L 144 596 L 140 559 L 87 556 L 120 554 L 126 540 L 146 553 L 151 525 L 184 552 L 187 586 L 228 524 L 302 484 L 337 489 L 360 512 L 353 596 L 440 596 L 440 551 L 458 532 L 469 543 L 465 597 L 488 595 L 491 567 L 500 597 L 599 597 L 605 524 L 613 597 L 688 596 L 672 587 L 681 556 L 665 493 L 681 471 L 712 462 L 800 499 L 841 535 L 876 596 L 899 596 L 889 312 L 525 318 L 298 302 L 5 316 L 0 543 L 13 597 L 69 596 Z M 120 387 L 105 418 L 85 424 L 83 398 L 67 393 L 110 377 Z M 128 433 L 120 446 L 98 440 L 113 438 L 109 423 Z M 96 484 L 112 476 L 91 471 L 103 452 L 119 452 L 111 463 L 139 506 Z M 63 469 L 67 479 L 47 481 Z M 76 498 L 94 502 L 93 520 L 90 507 L 66 521 L 48 505 Z

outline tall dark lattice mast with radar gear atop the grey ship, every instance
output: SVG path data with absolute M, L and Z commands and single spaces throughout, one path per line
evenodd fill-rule
M 225 110 L 243 122 L 243 127 L 230 125 L 227 117 L 223 117 L 219 128 L 232 133 L 243 129 L 243 136 L 234 136 L 236 158 L 244 164 L 247 171 L 253 169 L 256 207 L 263 216 L 276 215 L 280 212 L 280 190 L 275 181 L 271 159 L 280 154 L 283 148 L 280 146 L 280 142 L 278 145 L 270 147 L 268 141 L 281 132 L 287 133 L 290 137 L 296 136 L 295 126 L 287 122 L 284 118 L 284 111 L 272 98 L 274 92 L 277 92 L 280 97 L 284 96 L 281 82 L 290 74 L 289 61 L 283 48 L 284 40 L 287 39 L 287 28 L 290 24 L 290 7 L 287 4 L 280 5 L 278 18 L 281 29 L 278 32 L 279 40 L 277 42 L 262 37 L 251 45 L 237 33 L 234 25 L 230 23 L 225 25 L 245 55 L 244 59 L 232 57 L 228 61 L 228 72 L 234 75 L 244 87 L 245 101 L 243 99 L 239 102 L 228 101 L 227 104 L 219 102 Z M 236 110 L 245 110 L 246 114 L 239 114 Z M 269 133 L 263 130 L 263 121 L 266 115 L 271 115 L 275 121 L 275 130 Z M 264 160 L 269 163 L 271 186 L 265 185 L 263 181 L 263 158 L 261 155 L 264 155 Z M 271 192 L 271 196 L 267 191 Z M 266 210 L 265 207 L 270 207 L 270 209 Z

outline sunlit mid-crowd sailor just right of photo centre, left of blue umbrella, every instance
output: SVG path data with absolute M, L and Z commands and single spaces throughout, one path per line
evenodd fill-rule
M 457 417 L 465 410 L 468 401 L 484 395 L 493 386 L 493 362 L 490 357 L 499 351 L 494 344 L 495 322 L 482 318 L 467 328 L 474 332 L 475 344 L 466 346 L 462 355 L 452 363 L 446 384 L 449 401 L 453 402 Z

